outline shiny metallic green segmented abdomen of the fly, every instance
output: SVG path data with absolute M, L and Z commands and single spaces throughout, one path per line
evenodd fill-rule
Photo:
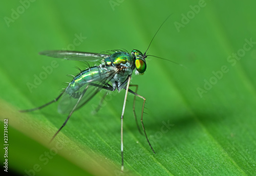
M 72 82 L 70 82 L 69 86 L 66 88 L 66 92 L 74 98 L 78 98 L 81 93 L 79 92 L 79 89 L 82 86 L 90 82 L 100 81 L 107 78 L 111 74 L 111 71 L 113 70 L 100 66 L 83 70 Z

